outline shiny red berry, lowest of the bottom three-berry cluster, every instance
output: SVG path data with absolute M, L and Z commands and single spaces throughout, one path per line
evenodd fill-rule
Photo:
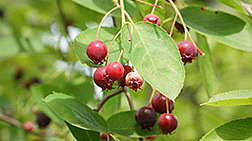
M 168 134 L 177 128 L 177 117 L 173 114 L 164 113 L 158 119 L 158 125 L 163 134 Z

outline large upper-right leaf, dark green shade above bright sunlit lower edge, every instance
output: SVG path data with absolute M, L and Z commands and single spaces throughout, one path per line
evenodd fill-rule
M 236 49 L 252 51 L 252 26 L 238 17 L 200 7 L 186 7 L 180 12 L 186 25 L 200 34 Z

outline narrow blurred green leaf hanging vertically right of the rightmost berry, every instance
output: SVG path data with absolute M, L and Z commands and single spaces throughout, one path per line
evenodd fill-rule
M 198 57 L 198 62 L 203 85 L 210 97 L 215 87 L 215 73 L 211 61 L 211 52 L 205 36 L 196 33 L 196 38 L 197 45 L 205 53 L 205 56 Z

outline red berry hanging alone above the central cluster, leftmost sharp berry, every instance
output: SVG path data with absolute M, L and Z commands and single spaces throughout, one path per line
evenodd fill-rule
M 107 46 L 102 41 L 93 41 L 87 47 L 87 55 L 95 64 L 102 64 L 107 55 Z

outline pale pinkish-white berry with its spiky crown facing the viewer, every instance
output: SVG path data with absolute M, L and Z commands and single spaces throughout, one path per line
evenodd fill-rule
M 137 72 L 128 73 L 125 77 L 125 81 L 126 85 L 134 91 L 141 89 L 140 87 L 143 85 L 143 79 Z

